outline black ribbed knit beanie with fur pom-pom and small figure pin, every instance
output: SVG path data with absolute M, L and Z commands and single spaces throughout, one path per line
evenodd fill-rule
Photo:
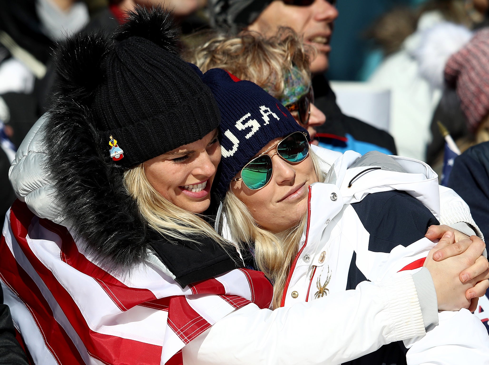
M 86 44 L 97 48 L 87 106 L 112 163 L 133 167 L 201 139 L 220 122 L 211 91 L 178 54 L 176 29 L 162 8 L 137 7 L 113 42 L 94 36 Z

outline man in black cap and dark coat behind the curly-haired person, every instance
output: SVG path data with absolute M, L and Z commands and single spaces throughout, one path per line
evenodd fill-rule
M 389 133 L 343 114 L 323 74 L 329 66 L 333 21 L 338 17 L 334 3 L 333 0 L 210 0 L 209 10 L 211 25 L 215 28 L 232 33 L 247 28 L 273 35 L 279 26 L 289 26 L 304 36 L 305 43 L 316 48 L 311 71 L 315 75 L 312 80 L 314 104 L 326 115 L 326 123 L 317 127 L 322 147 L 396 154 L 396 145 Z

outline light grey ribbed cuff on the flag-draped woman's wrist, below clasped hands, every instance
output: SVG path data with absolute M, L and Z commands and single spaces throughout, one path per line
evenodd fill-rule
M 452 227 L 453 228 L 453 227 Z M 429 270 L 423 267 L 413 274 L 414 285 L 420 301 L 424 328 L 430 324 L 438 324 L 438 300 L 436 297 L 435 284 Z

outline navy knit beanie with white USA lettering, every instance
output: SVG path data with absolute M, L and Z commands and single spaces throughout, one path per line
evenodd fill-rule
M 216 175 L 213 188 L 223 198 L 234 176 L 268 142 L 307 130 L 277 99 L 251 81 L 242 81 L 221 68 L 201 77 L 221 111 L 221 174 Z

